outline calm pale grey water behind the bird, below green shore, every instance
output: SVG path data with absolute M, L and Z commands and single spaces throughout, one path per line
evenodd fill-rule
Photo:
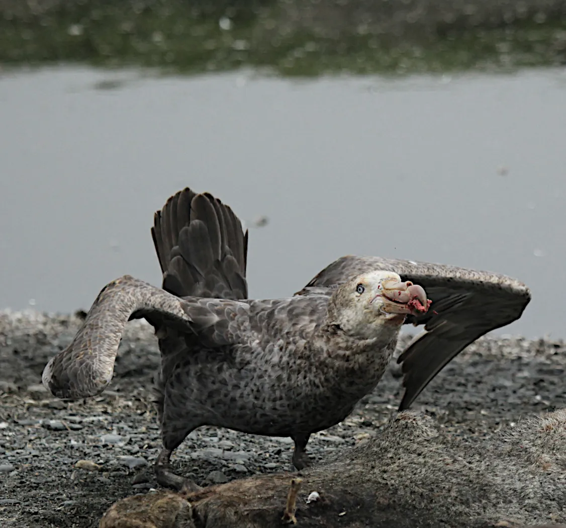
M 313 80 L 5 71 L 0 309 L 88 309 L 125 273 L 160 285 L 153 213 L 191 186 L 250 227 L 251 297 L 293 294 L 344 254 L 440 262 L 531 287 L 499 334 L 564 338 L 565 145 L 563 69 Z

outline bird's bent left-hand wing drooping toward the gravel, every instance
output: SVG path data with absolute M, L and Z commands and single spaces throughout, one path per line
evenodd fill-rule
M 59 398 L 100 394 L 112 380 L 118 345 L 130 319 L 146 317 L 181 334 L 194 334 L 202 346 L 217 347 L 246 340 L 248 311 L 246 302 L 181 299 L 126 275 L 100 291 L 72 343 L 45 366 L 43 384 Z

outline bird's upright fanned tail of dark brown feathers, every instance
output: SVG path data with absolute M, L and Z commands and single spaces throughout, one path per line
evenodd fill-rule
M 186 187 L 153 218 L 163 289 L 178 297 L 246 299 L 247 231 L 228 205 Z

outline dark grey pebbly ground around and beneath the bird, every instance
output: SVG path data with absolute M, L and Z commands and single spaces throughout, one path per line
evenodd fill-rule
M 151 382 L 152 330 L 128 325 L 110 386 L 100 397 L 55 400 L 41 386 L 47 360 L 66 346 L 78 317 L 0 315 L 0 524 L 95 527 L 115 500 L 157 487 L 160 449 Z M 563 341 L 482 338 L 454 360 L 413 406 L 464 442 L 528 414 L 566 407 Z M 391 368 L 344 422 L 312 437 L 316 460 L 374 435 L 400 401 Z M 213 427 L 193 432 L 173 456 L 199 484 L 290 469 L 292 443 Z

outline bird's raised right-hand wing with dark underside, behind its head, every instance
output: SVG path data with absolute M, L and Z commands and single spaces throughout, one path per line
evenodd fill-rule
M 400 410 L 408 409 L 434 376 L 466 346 L 518 319 L 531 298 L 522 282 L 500 274 L 351 255 L 328 265 L 299 294 L 311 288 L 336 287 L 357 274 L 377 269 L 396 272 L 401 280 L 420 284 L 432 301 L 426 314 L 409 316 L 406 321 L 424 324 L 424 331 L 398 358 L 405 387 Z

